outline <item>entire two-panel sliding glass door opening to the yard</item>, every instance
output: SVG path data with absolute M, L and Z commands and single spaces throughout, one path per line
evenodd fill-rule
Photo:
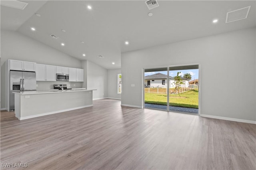
M 144 69 L 144 108 L 199 113 L 199 65 Z

